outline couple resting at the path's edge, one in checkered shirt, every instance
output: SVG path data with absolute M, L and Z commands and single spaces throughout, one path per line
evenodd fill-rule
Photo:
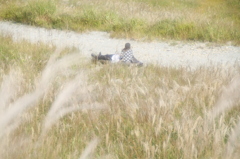
M 120 55 L 118 54 L 107 54 L 107 55 L 102 55 L 99 53 L 99 55 L 94 55 L 92 54 L 92 57 L 95 60 L 108 60 L 113 63 L 116 62 L 122 62 L 124 64 L 137 64 L 139 66 L 142 66 L 143 63 L 138 61 L 134 56 L 133 56 L 133 51 L 131 49 L 130 43 L 126 43 L 125 47 L 122 49 L 122 52 Z

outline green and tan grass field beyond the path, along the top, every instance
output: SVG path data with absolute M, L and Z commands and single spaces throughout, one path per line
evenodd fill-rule
M 0 0 L 0 20 L 136 40 L 240 43 L 239 0 Z

